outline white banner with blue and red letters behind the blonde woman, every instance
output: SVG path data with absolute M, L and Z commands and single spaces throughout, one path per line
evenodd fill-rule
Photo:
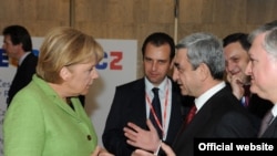
M 85 96 L 85 111 L 98 133 L 99 145 L 103 146 L 101 137 L 115 87 L 136 79 L 137 42 L 135 40 L 96 40 L 103 46 L 105 55 L 96 65 L 100 77 L 94 81 Z M 3 41 L 1 35 L 0 41 Z M 43 38 L 32 38 L 34 53 L 38 54 L 42 41 Z M 7 54 L 0 49 L 0 156 L 3 156 L 2 123 L 7 108 L 6 100 L 16 70 L 16 66 L 9 63 Z

